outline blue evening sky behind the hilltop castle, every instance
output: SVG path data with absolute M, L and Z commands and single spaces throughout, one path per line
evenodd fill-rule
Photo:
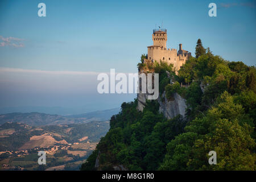
M 38 16 L 38 3 L 46 3 L 46 17 Z M 217 17 L 208 16 L 210 2 L 217 4 Z M 256 24 L 255 1 L 1 1 L 0 2 L 0 45 L 9 38 L 9 44 L 0 47 L 0 67 L 25 71 L 72 71 L 72 72 L 137 72 L 137 63 L 147 46 L 152 44 L 151 34 L 155 25 L 167 28 L 167 47 L 178 49 L 179 43 L 194 55 L 196 41 L 200 38 L 205 47 L 210 47 L 216 55 L 230 61 L 243 61 L 255 65 Z M 2 72 L 0 107 L 4 106 L 64 106 L 86 105 L 86 98 L 97 93 L 87 92 L 77 95 L 63 93 L 55 99 L 50 80 L 43 79 L 42 73 L 29 73 L 18 80 L 13 72 Z M 15 72 L 15 74 L 24 74 Z M 33 75 L 34 74 L 34 75 Z M 35 75 L 40 75 L 42 97 L 36 95 Z M 47 74 L 47 73 L 45 73 Z M 63 77 L 59 75 L 55 77 Z M 57 79 L 57 78 L 56 78 Z M 65 79 L 63 77 L 63 79 Z M 7 82 L 6 80 L 9 80 Z M 20 86 L 31 80 L 30 94 Z M 85 79 L 85 83 L 96 80 Z M 13 84 L 13 85 L 11 85 Z M 27 82 L 28 84 L 28 82 Z M 68 86 L 70 83 L 65 83 Z M 20 84 L 22 85 L 22 84 Z M 96 85 L 96 84 L 94 84 Z M 3 86 L 2 86 L 3 88 Z M 45 90 L 44 90 L 45 89 Z M 65 88 L 63 88 L 65 89 Z M 94 86 L 91 88 L 94 89 Z M 13 90 L 13 95 L 6 90 Z M 15 91 L 14 91 L 15 90 Z M 45 92 L 43 92 L 45 91 Z M 97 90 L 95 89 L 95 92 Z M 46 102 L 48 96 L 52 102 Z M 59 93 L 61 91 L 59 90 Z M 61 95 L 61 94 L 60 94 Z M 13 96 L 17 98 L 12 99 Z M 18 97 L 20 96 L 20 97 Z M 63 104 L 64 98 L 74 98 Z M 75 99 L 76 97 L 76 99 Z M 84 98 L 79 100 L 79 98 Z M 103 96 L 101 96 L 103 97 Z M 109 97 L 109 96 L 105 96 Z M 114 97 L 114 96 L 113 96 Z M 117 96 L 112 100 L 96 104 L 106 105 L 106 109 L 116 107 L 132 96 Z M 26 100 L 26 102 L 24 102 Z M 104 100 L 104 99 L 101 99 Z M 62 102 L 61 102 L 62 101 Z M 82 103 L 83 102 L 83 103 Z M 73 104 L 69 104 L 73 103 Z M 104 107 L 105 108 L 105 107 Z M 103 109 L 104 109 L 103 108 Z

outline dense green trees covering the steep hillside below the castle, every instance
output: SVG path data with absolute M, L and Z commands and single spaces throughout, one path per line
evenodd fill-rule
M 186 118 L 164 118 L 157 101 L 147 101 L 143 112 L 137 100 L 123 103 L 82 170 L 113 170 L 121 164 L 129 170 L 255 170 L 254 66 L 226 61 L 199 41 L 196 57 L 178 76 L 163 62 L 138 64 L 139 70 L 145 67 L 159 73 L 161 94 L 165 90 L 172 100 L 176 92 L 187 100 Z M 209 151 L 216 151 L 216 165 L 209 165 Z

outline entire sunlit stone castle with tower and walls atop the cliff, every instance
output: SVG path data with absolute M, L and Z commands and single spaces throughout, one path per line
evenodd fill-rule
M 154 29 L 152 40 L 154 42 L 153 46 L 147 47 L 147 61 L 157 61 L 158 63 L 160 63 L 160 60 L 166 61 L 168 64 L 174 64 L 175 71 L 178 71 L 191 56 L 191 52 L 182 49 L 182 44 L 179 44 L 179 51 L 177 49 L 167 49 L 167 30 L 165 28 Z

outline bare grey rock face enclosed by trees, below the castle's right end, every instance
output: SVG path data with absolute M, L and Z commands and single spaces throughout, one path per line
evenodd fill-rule
M 186 100 L 179 94 L 174 93 L 174 101 L 168 101 L 165 92 L 163 93 L 163 99 L 158 97 L 159 113 L 163 113 L 164 117 L 171 119 L 177 115 L 182 115 L 185 118 L 186 113 Z

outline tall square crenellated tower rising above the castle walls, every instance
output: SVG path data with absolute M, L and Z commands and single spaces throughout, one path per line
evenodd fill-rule
M 166 48 L 167 42 L 167 30 L 166 29 L 155 29 L 153 30 L 152 40 L 154 42 L 154 46 L 160 46 L 162 48 Z

